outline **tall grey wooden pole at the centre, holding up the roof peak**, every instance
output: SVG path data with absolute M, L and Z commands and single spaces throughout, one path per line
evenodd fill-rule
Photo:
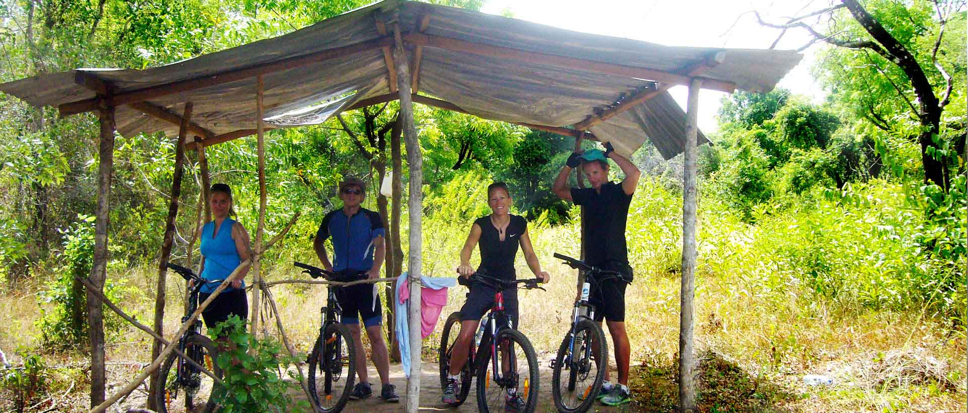
M 423 338 L 420 337 L 420 275 L 421 275 L 421 251 L 423 250 L 422 240 L 422 221 L 420 213 L 423 211 L 422 189 L 423 189 L 423 154 L 420 151 L 420 139 L 417 136 L 416 126 L 413 124 L 413 101 L 410 98 L 410 76 L 407 67 L 407 52 L 404 50 L 404 42 L 400 36 L 400 26 L 393 24 L 393 36 L 397 40 L 394 49 L 397 62 L 397 81 L 399 82 L 400 93 L 400 121 L 404 133 L 404 141 L 407 145 L 407 162 L 409 163 L 409 199 L 408 210 L 410 211 L 410 233 L 409 233 L 409 263 L 408 271 L 410 282 L 409 299 L 409 339 L 410 339 L 410 377 L 407 381 L 407 409 L 408 413 L 416 413 L 420 407 L 420 352 L 423 348 Z

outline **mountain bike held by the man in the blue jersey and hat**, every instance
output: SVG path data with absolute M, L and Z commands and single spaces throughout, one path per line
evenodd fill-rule
M 312 265 L 293 262 L 303 273 L 318 279 L 352 281 L 366 279 L 366 273 L 331 273 Z M 336 301 L 336 285 L 327 285 L 326 306 L 319 309 L 319 337 L 306 363 L 309 388 L 321 412 L 338 412 L 347 405 L 356 378 L 356 346 L 349 329 L 340 323 L 343 309 Z

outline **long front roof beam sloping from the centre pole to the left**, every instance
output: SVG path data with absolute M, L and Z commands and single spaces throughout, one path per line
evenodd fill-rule
M 393 44 L 392 37 L 381 37 L 367 42 L 348 44 L 341 47 L 327 48 L 313 53 L 300 56 L 288 57 L 269 63 L 262 63 L 248 68 L 235 69 L 220 74 L 206 75 L 185 80 L 173 81 L 157 86 L 151 86 L 127 92 L 120 92 L 110 98 L 96 97 L 82 101 L 61 104 L 58 109 L 61 116 L 70 116 L 76 113 L 83 113 L 95 110 L 101 101 L 105 101 L 107 106 L 117 106 L 120 104 L 136 103 L 148 101 L 154 98 L 171 95 L 178 92 L 187 92 L 205 87 L 220 85 L 236 80 L 255 77 L 259 74 L 272 74 L 292 68 L 311 65 L 327 60 L 339 59 L 351 54 L 381 48 L 384 45 Z

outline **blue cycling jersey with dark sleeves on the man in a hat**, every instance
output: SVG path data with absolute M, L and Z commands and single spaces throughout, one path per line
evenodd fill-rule
M 326 214 L 316 232 L 319 239 L 333 237 L 333 271 L 370 271 L 374 240 L 384 237 L 383 220 L 379 214 L 360 208 L 352 217 L 343 209 Z

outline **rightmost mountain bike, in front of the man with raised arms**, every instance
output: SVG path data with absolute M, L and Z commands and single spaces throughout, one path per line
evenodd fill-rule
M 601 288 L 602 282 L 625 280 L 618 271 L 601 270 L 557 252 L 555 257 L 571 268 L 584 271 L 586 281 L 581 297 L 575 302 L 571 328 L 551 363 L 552 397 L 560 412 L 586 412 L 598 398 L 608 366 L 608 343 L 601 326 L 594 322 L 595 307 L 589 303 L 590 291 Z

